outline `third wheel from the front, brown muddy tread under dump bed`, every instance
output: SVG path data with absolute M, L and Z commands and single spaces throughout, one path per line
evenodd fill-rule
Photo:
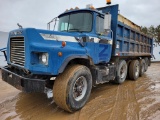
M 140 65 L 138 60 L 131 61 L 129 66 L 129 78 L 131 80 L 137 80 L 139 77 Z

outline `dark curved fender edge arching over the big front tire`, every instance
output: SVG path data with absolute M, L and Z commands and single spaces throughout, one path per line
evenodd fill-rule
M 59 68 L 58 70 L 58 73 L 62 73 L 64 71 L 64 69 L 66 68 L 66 66 L 68 65 L 68 63 L 73 60 L 73 59 L 76 59 L 76 58 L 82 58 L 82 59 L 86 59 L 86 60 L 89 60 L 89 57 L 88 56 L 81 56 L 81 55 L 76 55 L 76 56 L 70 56 L 68 57 L 67 59 L 64 60 L 63 64 L 61 65 L 61 67 Z

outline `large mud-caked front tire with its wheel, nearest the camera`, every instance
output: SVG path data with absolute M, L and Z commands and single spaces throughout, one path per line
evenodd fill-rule
M 69 66 L 56 78 L 53 86 L 53 98 L 62 109 L 74 112 L 86 104 L 91 89 L 90 70 L 83 65 Z

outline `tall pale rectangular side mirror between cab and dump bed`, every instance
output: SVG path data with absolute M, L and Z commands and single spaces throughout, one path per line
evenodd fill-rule
M 110 31 L 111 29 L 111 14 L 105 14 L 104 16 L 104 31 Z

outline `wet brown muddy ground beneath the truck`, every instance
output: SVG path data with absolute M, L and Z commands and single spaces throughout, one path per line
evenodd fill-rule
M 137 81 L 93 88 L 75 113 L 60 109 L 45 94 L 26 94 L 0 79 L 0 120 L 160 120 L 160 63 Z

